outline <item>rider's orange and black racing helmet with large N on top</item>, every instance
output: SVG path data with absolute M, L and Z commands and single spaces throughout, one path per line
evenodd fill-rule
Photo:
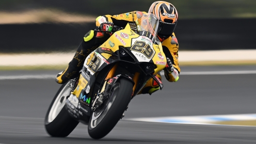
M 174 5 L 166 1 L 156 1 L 151 4 L 148 13 L 154 14 L 160 21 L 158 32 L 160 39 L 172 35 L 178 21 L 178 12 Z

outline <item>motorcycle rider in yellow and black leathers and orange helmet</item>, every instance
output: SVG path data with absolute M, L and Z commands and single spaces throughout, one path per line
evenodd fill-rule
M 160 20 L 160 29 L 157 33 L 157 38 L 161 42 L 163 52 L 167 58 L 164 75 L 168 81 L 176 82 L 180 72 L 178 66 L 179 46 L 174 34 L 178 20 L 176 8 L 169 2 L 156 1 L 150 6 L 148 13 L 154 14 Z M 99 30 L 112 31 L 113 26 L 126 27 L 128 22 L 134 22 L 137 18 L 141 18 L 143 14 L 146 14 L 146 12 L 134 11 L 124 14 L 99 16 L 96 18 L 96 26 Z M 101 33 L 94 30 L 87 32 L 74 58 L 69 62 L 68 67 L 56 75 L 56 82 L 64 84 L 69 79 L 77 77 L 83 67 L 85 58 L 109 37 L 109 33 Z M 157 74 L 157 76 L 161 80 L 160 74 Z M 150 79 L 140 93 L 152 94 L 159 88 L 158 84 L 153 79 Z

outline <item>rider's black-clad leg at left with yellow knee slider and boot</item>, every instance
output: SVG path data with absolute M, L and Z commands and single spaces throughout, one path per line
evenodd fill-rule
M 68 67 L 63 72 L 56 75 L 57 83 L 64 84 L 69 79 L 78 76 L 79 71 L 83 67 L 85 58 L 99 46 L 95 35 L 94 30 L 90 30 L 84 35 L 83 41 L 80 43 L 75 56 L 69 62 Z

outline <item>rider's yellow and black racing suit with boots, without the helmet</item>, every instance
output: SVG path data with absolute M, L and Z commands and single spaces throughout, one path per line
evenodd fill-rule
M 117 15 L 98 16 L 96 18 L 96 26 L 100 27 L 102 23 L 111 23 L 115 26 L 125 28 L 128 22 L 133 22 L 137 18 L 141 18 L 143 14 L 146 14 L 146 12 L 134 11 L 134 12 L 124 13 L 124 14 L 117 14 Z M 83 38 L 83 41 L 78 47 L 77 54 L 69 63 L 68 68 L 64 72 L 60 72 L 59 74 L 57 74 L 56 81 L 60 84 L 66 82 L 68 80 L 68 77 L 67 77 L 67 75 L 69 74 L 68 72 L 73 72 L 74 67 L 78 68 L 78 66 L 80 66 L 79 64 L 84 62 L 85 58 L 88 56 L 90 52 L 92 52 L 99 45 L 104 43 L 105 42 L 104 40 L 106 40 L 106 37 L 105 38 L 104 37 L 98 37 L 97 32 L 95 32 L 94 30 L 90 30 L 88 33 L 86 33 Z M 103 41 L 101 41 L 100 39 Z M 163 52 L 165 56 L 171 59 L 171 62 L 175 67 L 174 72 L 171 72 L 171 73 L 165 72 L 165 77 L 170 82 L 176 82 L 178 79 L 180 68 L 178 66 L 178 43 L 174 33 L 172 36 L 170 36 L 168 39 L 162 42 L 162 47 L 163 47 Z M 74 75 L 76 75 L 76 73 Z M 161 79 L 160 74 L 157 74 L 157 76 Z M 151 79 L 147 82 L 147 84 L 144 86 L 143 90 L 140 93 L 151 94 L 158 89 L 159 89 L 159 86 L 156 85 L 156 82 L 154 82 L 153 79 Z

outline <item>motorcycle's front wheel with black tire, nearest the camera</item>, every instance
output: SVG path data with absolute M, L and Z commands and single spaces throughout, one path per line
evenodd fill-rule
M 90 117 L 88 133 L 92 138 L 103 138 L 114 128 L 130 102 L 132 87 L 131 81 L 122 77 L 113 85 L 108 100 Z

